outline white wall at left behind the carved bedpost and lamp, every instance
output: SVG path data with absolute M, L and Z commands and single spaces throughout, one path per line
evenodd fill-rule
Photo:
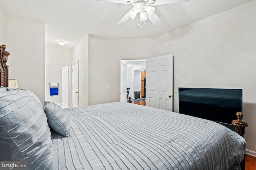
M 4 26 L 9 78 L 44 102 L 45 24 L 6 15 Z

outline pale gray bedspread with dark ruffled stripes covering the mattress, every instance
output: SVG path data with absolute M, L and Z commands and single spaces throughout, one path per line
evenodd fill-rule
M 126 102 L 65 110 L 55 170 L 228 170 L 244 157 L 244 138 L 205 119 Z

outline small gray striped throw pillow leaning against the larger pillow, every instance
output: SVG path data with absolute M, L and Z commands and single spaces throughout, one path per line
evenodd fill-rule
M 44 101 L 44 112 L 46 113 L 50 127 L 60 135 L 69 137 L 70 120 L 66 111 L 54 102 Z

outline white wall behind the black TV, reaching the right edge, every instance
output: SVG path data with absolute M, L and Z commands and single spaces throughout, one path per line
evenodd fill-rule
M 156 38 L 174 54 L 174 111 L 179 87 L 243 89 L 247 149 L 256 155 L 256 0 Z

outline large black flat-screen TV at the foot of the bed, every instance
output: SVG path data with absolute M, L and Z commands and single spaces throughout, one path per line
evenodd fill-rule
M 231 124 L 242 112 L 242 89 L 179 88 L 179 112 Z

